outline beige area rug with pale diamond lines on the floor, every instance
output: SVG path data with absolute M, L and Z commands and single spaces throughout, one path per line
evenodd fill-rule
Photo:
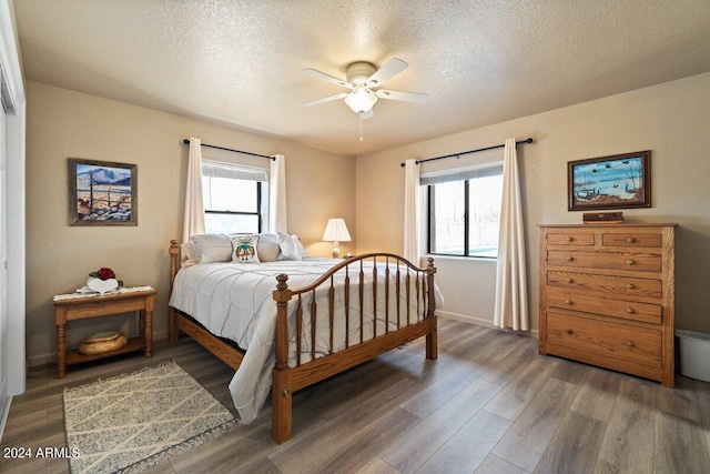
M 138 473 L 235 424 L 175 362 L 64 389 L 63 402 L 72 474 Z

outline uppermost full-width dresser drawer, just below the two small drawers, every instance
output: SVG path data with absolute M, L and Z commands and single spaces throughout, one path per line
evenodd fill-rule
M 660 272 L 662 259 L 657 253 L 610 252 L 581 250 L 548 250 L 547 264 L 581 269 L 628 270 L 635 272 Z

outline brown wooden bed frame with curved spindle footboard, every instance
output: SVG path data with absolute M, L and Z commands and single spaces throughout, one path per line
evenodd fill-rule
M 178 271 L 180 270 L 180 244 L 176 240 L 171 241 L 170 245 L 170 292 L 172 294 L 173 291 L 173 281 Z M 388 300 L 388 291 L 385 291 L 385 314 L 384 319 L 386 320 L 386 327 L 389 326 L 389 321 L 392 317 L 392 322 L 394 324 L 395 317 L 397 322 L 396 331 L 386 331 L 385 334 L 374 334 L 374 339 L 363 340 L 363 331 L 361 324 L 361 341 L 359 343 L 353 344 L 346 343 L 346 347 L 344 350 L 333 352 L 333 317 L 334 317 L 334 305 L 338 304 L 336 299 L 334 297 L 335 290 L 333 286 L 333 275 L 338 270 L 345 269 L 346 272 L 346 285 L 345 285 L 345 333 L 348 332 L 349 326 L 349 275 L 354 274 L 355 279 L 359 279 L 359 289 L 353 297 L 355 300 L 355 306 L 359 304 L 361 307 L 361 317 L 362 317 L 362 309 L 365 307 L 364 304 L 372 304 L 372 306 L 367 307 L 377 307 L 377 291 L 376 288 L 372 291 L 372 300 L 373 301 L 364 301 L 364 292 L 362 291 L 363 281 L 365 276 L 365 272 L 363 271 L 363 262 L 366 260 L 372 260 L 374 262 L 382 261 L 386 264 L 385 272 L 385 289 L 389 289 L 389 284 L 396 285 L 396 294 L 400 294 L 400 271 L 406 272 L 402 275 L 405 286 L 406 286 L 406 309 L 400 309 L 399 297 L 397 297 L 396 303 L 394 304 L 395 311 L 394 314 L 390 314 L 389 302 Z M 351 268 L 355 268 L 356 270 L 349 270 Z M 389 279 L 389 268 L 396 269 L 397 278 L 394 279 L 395 282 L 390 283 Z M 367 271 L 373 272 L 373 276 L 376 278 L 377 265 L 374 265 L 374 269 L 367 269 Z M 271 390 L 271 399 L 272 399 L 272 437 L 278 444 L 284 443 L 291 440 L 292 435 L 292 394 L 301 389 L 304 389 L 308 385 L 312 385 L 316 382 L 320 382 L 324 379 L 327 379 L 332 375 L 341 373 L 345 370 L 354 367 L 365 361 L 368 361 L 377 355 L 384 354 L 387 351 L 396 349 L 402 344 L 414 341 L 422 336 L 426 337 L 426 357 L 434 360 L 437 357 L 437 320 L 435 313 L 435 289 L 434 289 L 434 274 L 436 273 L 436 269 L 434 268 L 434 259 L 428 259 L 428 265 L 426 269 L 418 269 L 413 265 L 407 260 L 402 256 L 390 254 L 390 253 L 368 253 L 364 255 L 354 256 L 349 260 L 345 260 L 342 263 L 336 264 L 329 271 L 324 273 L 316 282 L 313 284 L 298 289 L 291 290 L 286 284 L 288 276 L 286 274 L 281 274 L 276 278 L 276 286 L 273 293 L 274 301 L 276 304 L 276 344 L 275 344 L 275 356 L 276 356 L 276 365 L 273 370 L 273 380 L 272 380 L 272 390 Z M 410 285 L 415 285 L 414 289 Z M 301 304 L 301 300 L 303 295 L 307 293 L 312 293 L 315 295 L 316 288 L 326 288 L 328 291 L 328 306 L 326 309 L 326 315 L 331 321 L 331 353 L 327 355 L 320 356 L 315 359 L 315 349 L 313 349 L 311 360 L 308 362 L 301 362 L 301 334 L 302 334 L 302 321 L 303 321 L 303 307 Z M 412 290 L 412 291 L 410 291 Z M 416 306 L 420 312 L 418 314 L 423 316 L 422 321 L 416 322 L 417 317 L 414 317 L 414 323 L 409 323 L 410 312 L 409 312 L 409 297 L 410 293 L 416 294 Z M 297 335 L 296 337 L 296 347 L 297 347 L 297 361 L 294 366 L 288 366 L 288 321 L 287 321 L 287 304 L 292 297 L 297 299 Z M 314 302 L 310 303 L 311 317 L 314 319 L 318 314 L 318 309 Z M 402 310 L 402 311 L 400 311 Z M 379 313 L 378 313 L 378 316 Z M 207 351 L 212 352 L 224 363 L 230 365 L 235 371 L 239 369 L 242 359 L 244 357 L 244 352 L 235 346 L 235 344 L 231 343 L 227 340 L 219 337 L 207 330 L 205 330 L 201 324 L 195 322 L 187 314 L 184 314 L 174 307 L 169 307 L 169 317 L 170 317 L 170 332 L 169 339 L 170 342 L 176 342 L 179 337 L 180 331 L 192 336 L 196 342 L 202 344 Z M 315 324 L 312 324 L 314 327 Z M 376 331 L 376 329 L 375 329 Z

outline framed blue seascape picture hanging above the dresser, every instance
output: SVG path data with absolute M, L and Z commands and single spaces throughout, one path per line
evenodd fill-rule
M 651 151 L 567 163 L 569 211 L 651 206 Z

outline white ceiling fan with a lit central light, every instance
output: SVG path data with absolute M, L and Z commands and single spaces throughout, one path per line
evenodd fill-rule
M 353 62 L 346 69 L 345 80 L 337 79 L 315 69 L 304 69 L 303 72 L 308 75 L 324 79 L 351 90 L 349 92 L 342 92 L 339 94 L 305 102 L 304 105 L 312 107 L 333 100 L 345 99 L 347 107 L 349 107 L 353 112 L 359 114 L 361 119 L 371 119 L 375 117 L 373 105 L 377 102 L 377 99 L 424 103 L 428 99 L 429 94 L 378 89 L 383 83 L 385 83 L 385 81 L 407 69 L 407 65 L 408 64 L 406 62 L 398 58 L 390 59 L 379 69 L 375 68 L 369 62 Z

